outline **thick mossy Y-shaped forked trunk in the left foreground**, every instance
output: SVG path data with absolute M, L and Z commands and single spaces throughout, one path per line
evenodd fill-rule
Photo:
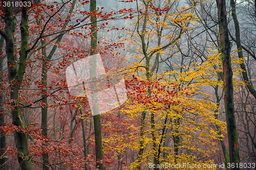
M 26 59 L 28 55 L 28 9 L 22 9 L 22 18 L 20 21 L 21 44 L 19 51 L 19 63 L 16 65 L 17 56 L 14 51 L 14 32 L 16 28 L 16 19 L 12 14 L 12 8 L 6 7 L 5 11 L 5 31 L 0 30 L 0 34 L 6 41 L 6 55 L 8 67 L 8 79 L 10 83 L 10 100 L 11 100 L 11 115 L 12 123 L 17 127 L 24 128 L 24 124 L 20 115 L 20 108 L 18 107 L 19 93 L 18 90 L 23 82 L 24 73 L 26 70 Z M 14 132 L 15 144 L 17 148 L 17 157 L 20 169 L 31 170 L 33 169 L 28 145 L 28 134 L 23 131 Z

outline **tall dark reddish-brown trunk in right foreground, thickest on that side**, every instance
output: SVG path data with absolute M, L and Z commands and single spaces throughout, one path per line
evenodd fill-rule
M 225 0 L 216 0 L 218 8 L 218 23 L 220 33 L 220 53 L 223 66 L 224 76 L 224 106 L 227 124 L 228 148 L 230 163 L 235 165 L 240 163 L 238 132 L 236 125 L 236 117 L 234 115 L 233 102 L 233 80 L 232 67 L 230 59 L 230 41 L 228 37 L 227 14 Z M 240 169 L 234 167 L 231 169 Z

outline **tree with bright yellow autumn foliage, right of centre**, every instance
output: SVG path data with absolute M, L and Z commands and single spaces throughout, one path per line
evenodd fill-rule
M 191 93 L 197 93 L 197 90 L 194 89 L 195 86 L 192 84 L 199 83 L 198 79 L 206 74 L 202 73 L 203 75 L 201 75 L 199 70 L 206 70 L 205 68 L 202 69 L 200 64 L 205 64 L 205 67 L 210 67 L 212 64 L 210 55 L 206 56 L 207 61 L 205 63 L 193 62 L 195 60 L 190 63 L 186 62 L 186 59 L 190 56 L 185 55 L 186 52 L 182 50 L 180 45 L 183 44 L 182 36 L 190 34 L 190 27 L 188 25 L 197 20 L 194 14 L 190 12 L 190 9 L 194 9 L 193 6 L 179 8 L 175 2 L 173 4 L 168 4 L 168 2 L 161 3 L 163 2 L 142 2 L 141 6 L 144 8 L 144 13 L 142 12 L 143 8 L 140 9 L 138 6 L 137 11 L 139 11 L 140 16 L 138 21 L 135 22 L 135 31 L 138 32 L 138 39 L 136 39 L 137 37 L 134 34 L 131 38 L 131 44 L 138 44 L 137 48 L 132 48 L 135 52 L 135 57 L 138 58 L 138 62 L 134 64 L 134 67 L 130 67 L 134 68 L 135 80 L 134 82 L 129 81 L 127 84 L 138 84 L 132 88 L 134 90 L 132 92 L 132 96 L 134 96 L 132 99 L 134 101 L 130 101 L 130 103 L 134 102 L 134 105 L 127 109 L 131 109 L 129 113 L 131 113 L 132 117 L 136 113 L 141 113 L 140 139 L 138 139 L 140 144 L 137 144 L 139 154 L 138 159 L 130 166 L 131 169 L 144 168 L 143 166 L 148 162 L 153 162 L 155 165 L 165 161 L 174 164 L 175 162 L 190 162 L 191 160 L 186 159 L 189 157 L 187 155 L 195 156 L 195 153 L 190 152 L 195 145 L 190 145 L 189 141 L 195 143 L 198 136 L 193 135 L 192 131 L 195 129 L 191 126 L 193 123 L 189 121 L 189 118 L 195 120 L 195 124 L 198 124 L 199 120 L 195 117 L 201 115 L 203 111 L 201 110 L 202 108 L 193 107 L 195 105 L 192 104 L 193 102 L 190 101 L 189 97 L 185 98 L 182 94 L 186 94 L 185 92 L 183 93 L 183 90 L 186 91 L 188 89 Z M 172 12 L 171 9 L 174 9 L 172 6 L 175 6 L 177 10 L 180 9 L 180 11 L 175 11 L 177 14 Z M 167 36 L 163 36 L 165 34 Z M 180 55 L 177 55 L 177 51 L 180 51 Z M 174 66 L 174 56 L 177 57 L 178 61 L 181 61 L 178 66 Z M 156 74 L 155 71 L 160 73 Z M 135 75 L 137 76 L 135 77 Z M 210 78 L 207 77 L 206 79 Z M 204 83 L 200 83 L 205 85 L 207 84 L 206 82 L 207 80 Z M 190 85 L 193 87 L 190 87 Z M 173 93 L 170 92 L 171 90 Z M 188 91 L 186 92 L 189 96 Z M 166 101 L 161 100 L 161 95 L 165 96 Z M 172 96 L 172 99 L 168 100 L 166 95 Z M 199 101 L 197 102 L 199 103 Z M 200 102 L 204 103 L 206 101 Z M 134 106 L 136 107 L 133 108 Z M 205 104 L 201 104 L 201 106 L 205 108 Z M 177 109 L 177 107 L 180 109 Z M 193 107 L 195 110 L 190 112 L 190 107 Z M 212 112 L 207 113 L 209 115 L 212 114 Z M 194 118 L 192 118 L 193 115 L 195 115 Z M 212 119 L 211 121 L 213 123 L 215 120 Z M 202 122 L 204 121 L 202 120 Z M 205 124 L 207 125 L 207 123 Z M 185 127 L 191 127 L 191 131 Z M 197 131 L 197 133 L 199 134 L 200 132 Z M 191 136 L 184 137 L 183 134 Z M 201 140 L 200 142 L 203 143 Z M 202 146 L 200 149 L 202 149 Z M 193 151 L 195 152 L 195 150 Z M 193 161 L 197 161 L 196 157 L 202 157 L 203 159 L 204 156 L 202 155 L 204 154 L 201 151 L 198 153 L 201 155 L 192 156 L 195 158 Z M 159 168 L 157 166 L 154 167 L 154 169 Z

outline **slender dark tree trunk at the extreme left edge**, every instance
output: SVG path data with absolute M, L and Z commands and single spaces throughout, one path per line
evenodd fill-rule
M 0 87 L 4 87 L 3 82 L 3 62 L 4 62 L 4 56 L 3 56 L 3 48 L 4 48 L 4 42 L 5 39 L 3 36 L 0 36 L 0 72 L 2 72 L 2 75 L 0 75 Z M 4 106 L 4 93 L 0 91 L 0 126 L 4 125 L 5 123 L 5 112 L 2 107 Z M 6 148 L 6 136 L 4 135 L 4 132 L 0 132 L 0 169 L 4 170 L 6 168 L 6 156 L 5 152 L 3 152 L 3 149 Z

